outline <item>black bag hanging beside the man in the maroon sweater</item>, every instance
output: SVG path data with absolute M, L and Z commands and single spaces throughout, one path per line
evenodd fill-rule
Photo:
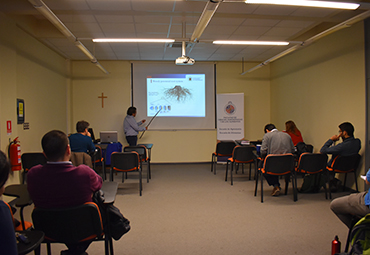
M 100 213 L 103 217 L 104 228 L 109 227 L 114 240 L 119 240 L 124 234 L 130 231 L 130 221 L 113 204 L 104 204 L 104 194 L 101 190 L 94 193 L 93 201 L 99 206 Z

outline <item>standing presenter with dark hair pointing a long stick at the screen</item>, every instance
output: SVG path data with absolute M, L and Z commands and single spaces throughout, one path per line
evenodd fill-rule
M 130 146 L 136 146 L 139 131 L 148 129 L 148 127 L 140 127 L 145 122 L 145 119 L 136 122 L 135 116 L 136 108 L 131 106 L 127 109 L 127 116 L 123 121 L 123 130 L 125 131 L 126 140 Z

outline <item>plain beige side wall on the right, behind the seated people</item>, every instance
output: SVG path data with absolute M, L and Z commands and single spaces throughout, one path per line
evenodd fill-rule
M 357 23 L 271 64 L 271 121 L 293 120 L 318 152 L 349 121 L 365 159 L 364 27 Z M 362 164 L 359 174 L 364 174 Z M 353 180 L 352 180 L 353 183 Z M 361 189 L 364 182 L 359 181 Z

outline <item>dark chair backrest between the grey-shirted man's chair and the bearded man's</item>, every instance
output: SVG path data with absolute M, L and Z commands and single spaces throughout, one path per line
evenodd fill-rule
M 323 153 L 302 153 L 299 157 L 297 172 L 315 174 L 326 169 L 328 155 Z

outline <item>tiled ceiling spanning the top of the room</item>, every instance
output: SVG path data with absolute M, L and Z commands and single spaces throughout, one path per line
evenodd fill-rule
M 97 60 L 175 60 L 181 56 L 183 22 L 189 39 L 207 0 L 43 0 Z M 263 62 L 338 23 L 356 11 L 252 5 L 224 0 L 198 43 L 186 55 L 196 61 Z M 238 0 L 236 0 L 238 1 Z M 338 1 L 338 0 L 337 0 Z M 356 2 L 356 1 L 346 1 Z M 0 11 L 20 21 L 38 40 L 67 59 L 88 59 L 28 0 L 0 0 Z M 25 19 L 26 18 L 26 19 Z M 27 26 L 24 20 L 28 20 Z M 23 25 L 22 25 L 23 24 Z M 176 43 L 93 43 L 92 38 L 172 38 Z M 213 40 L 290 41 L 289 46 L 226 46 Z M 172 46 L 172 47 L 171 47 Z

